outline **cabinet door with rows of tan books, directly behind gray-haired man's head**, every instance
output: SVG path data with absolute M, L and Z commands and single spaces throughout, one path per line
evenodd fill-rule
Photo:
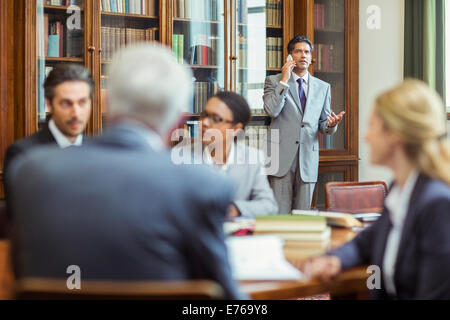
M 138 42 L 160 40 L 159 0 L 100 1 L 100 106 L 107 110 L 108 66 L 117 50 Z

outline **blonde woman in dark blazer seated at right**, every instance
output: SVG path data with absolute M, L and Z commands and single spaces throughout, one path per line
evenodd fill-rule
M 406 80 L 381 94 L 365 137 L 370 160 L 392 170 L 382 217 L 353 241 L 306 264 L 328 281 L 377 265 L 376 299 L 450 299 L 450 147 L 440 97 Z

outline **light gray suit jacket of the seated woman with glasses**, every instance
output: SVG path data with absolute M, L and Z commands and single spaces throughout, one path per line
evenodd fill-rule
M 191 163 L 203 163 L 203 154 L 200 148 L 194 148 L 199 140 L 184 140 L 174 149 L 174 153 L 190 152 Z M 190 151 L 189 151 L 190 150 Z M 257 215 L 270 215 L 278 213 L 278 204 L 264 172 L 264 155 L 262 151 L 235 143 L 235 158 L 230 159 L 226 176 L 234 186 L 233 201 L 244 217 Z M 181 156 L 181 155 L 180 155 Z

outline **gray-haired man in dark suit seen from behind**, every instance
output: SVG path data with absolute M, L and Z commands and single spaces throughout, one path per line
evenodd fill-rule
M 190 72 L 166 48 L 135 45 L 112 62 L 108 94 L 111 123 L 101 137 L 34 149 L 12 165 L 16 276 L 67 279 L 77 265 L 81 285 L 210 279 L 240 298 L 223 232 L 231 185 L 212 170 L 176 166 L 163 151 L 187 110 Z

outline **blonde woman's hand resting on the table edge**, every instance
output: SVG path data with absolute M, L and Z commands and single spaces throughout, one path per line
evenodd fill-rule
M 329 282 L 341 272 L 341 260 L 336 256 L 319 256 L 308 260 L 303 269 L 307 277 Z

